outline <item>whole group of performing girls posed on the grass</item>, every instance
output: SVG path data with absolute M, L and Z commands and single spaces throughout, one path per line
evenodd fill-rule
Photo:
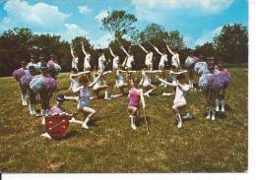
M 56 105 L 49 108 L 49 99 L 52 92 L 57 89 L 56 76 L 61 71 L 61 67 L 56 63 L 56 56 L 53 54 L 50 59 L 45 55 L 39 56 L 39 62 L 35 62 L 35 58 L 31 55 L 31 62 L 26 65 L 22 62 L 22 68 L 16 70 L 13 75 L 19 82 L 22 90 L 22 103 L 27 105 L 29 102 L 29 109 L 32 115 L 35 115 L 35 102 L 40 101 L 41 115 L 43 117 L 56 113 L 65 113 L 68 110 L 63 109 L 62 104 L 67 100 L 78 101 L 78 110 L 83 112 L 84 120 L 78 121 L 71 115 L 70 122 L 82 125 L 82 128 L 89 129 L 90 120 L 96 115 L 96 110 L 90 107 L 90 101 L 94 98 L 99 98 L 99 91 L 104 90 L 104 99 L 116 98 L 125 94 L 125 89 L 129 88 L 129 103 L 127 110 L 130 113 L 129 119 L 131 128 L 136 130 L 136 119 L 139 115 L 140 108 L 146 108 L 144 96 L 150 97 L 150 94 L 157 90 L 157 85 L 152 84 L 152 74 L 159 74 L 154 76 L 159 82 L 160 86 L 170 86 L 174 90 L 174 100 L 172 109 L 175 112 L 175 119 L 177 127 L 182 127 L 182 120 L 192 118 L 192 115 L 187 112 L 183 116 L 180 110 L 184 109 L 187 105 L 186 92 L 194 89 L 194 73 L 199 76 L 199 88 L 206 94 L 207 104 L 207 119 L 215 120 L 215 113 L 219 111 L 219 104 L 222 105 L 224 111 L 224 91 L 229 85 L 230 75 L 222 67 L 218 66 L 213 57 L 207 58 L 208 62 L 204 62 L 202 57 L 195 57 L 191 51 L 185 60 L 184 67 L 186 71 L 181 71 L 179 55 L 177 49 L 171 50 L 168 45 L 163 49 L 159 49 L 154 44 L 149 42 L 155 51 L 146 49 L 142 44 L 138 44 L 145 52 L 145 67 L 142 69 L 142 79 L 132 78 L 131 76 L 136 71 L 133 71 L 133 65 L 136 64 L 132 51 L 128 51 L 121 46 L 120 49 L 126 54 L 126 58 L 120 63 L 119 56 L 113 52 L 109 47 L 110 54 L 112 55 L 112 71 L 104 71 L 108 65 L 105 56 L 100 52 L 98 57 L 98 71 L 92 72 L 91 67 L 91 54 L 86 50 L 82 43 L 82 50 L 85 54 L 84 71 L 78 71 L 78 56 L 74 49 L 71 47 L 72 54 L 72 71 L 70 74 L 71 86 L 70 90 L 73 96 L 65 96 L 63 94 L 56 95 Z M 160 54 L 159 69 L 153 70 L 154 52 Z M 167 62 L 168 54 L 171 55 L 170 69 L 168 69 L 168 79 L 165 79 L 165 64 Z M 115 86 L 113 88 L 119 89 L 118 94 L 110 94 L 111 87 L 107 86 L 104 81 L 106 74 L 113 74 L 115 77 Z M 188 73 L 189 82 L 186 83 L 185 75 Z M 93 76 L 92 76 L 93 74 Z M 139 87 L 142 88 L 139 88 Z M 91 96 L 92 90 L 96 96 Z M 145 90 L 145 91 L 144 91 Z M 163 92 L 162 95 L 170 95 L 171 93 Z M 142 105 L 140 105 L 140 102 Z M 45 119 L 45 118 L 43 118 Z M 47 133 L 42 136 L 51 138 Z

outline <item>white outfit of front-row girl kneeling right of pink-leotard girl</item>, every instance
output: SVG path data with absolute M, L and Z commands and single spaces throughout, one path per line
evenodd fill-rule
M 175 93 L 175 98 L 173 100 L 173 105 L 181 106 L 181 105 L 187 104 L 187 100 L 185 98 L 187 90 L 189 90 L 189 85 L 176 84 L 176 93 Z

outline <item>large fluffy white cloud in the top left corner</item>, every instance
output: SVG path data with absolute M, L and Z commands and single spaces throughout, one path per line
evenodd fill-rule
M 7 16 L 0 22 L 0 29 L 27 26 L 36 30 L 59 30 L 70 16 L 58 7 L 46 3 L 30 5 L 27 1 L 9 0 L 4 4 Z

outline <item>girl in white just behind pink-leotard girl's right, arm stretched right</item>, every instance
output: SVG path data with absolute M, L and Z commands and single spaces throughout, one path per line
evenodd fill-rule
M 154 90 L 157 90 L 157 87 L 152 85 L 151 83 L 151 74 L 152 73 L 159 73 L 160 71 L 147 71 L 147 68 L 145 67 L 142 69 L 142 80 L 139 84 L 139 86 L 143 86 L 143 88 L 148 89 L 150 88 L 151 90 L 147 90 L 144 95 L 150 97 L 150 93 L 153 92 Z

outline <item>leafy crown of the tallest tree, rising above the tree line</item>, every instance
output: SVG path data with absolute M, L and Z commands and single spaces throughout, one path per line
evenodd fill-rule
M 122 38 L 123 35 L 129 35 L 130 38 L 136 36 L 137 30 L 135 23 L 137 22 L 137 18 L 123 10 L 107 12 L 107 16 L 101 22 L 102 30 L 107 30 L 117 39 Z

